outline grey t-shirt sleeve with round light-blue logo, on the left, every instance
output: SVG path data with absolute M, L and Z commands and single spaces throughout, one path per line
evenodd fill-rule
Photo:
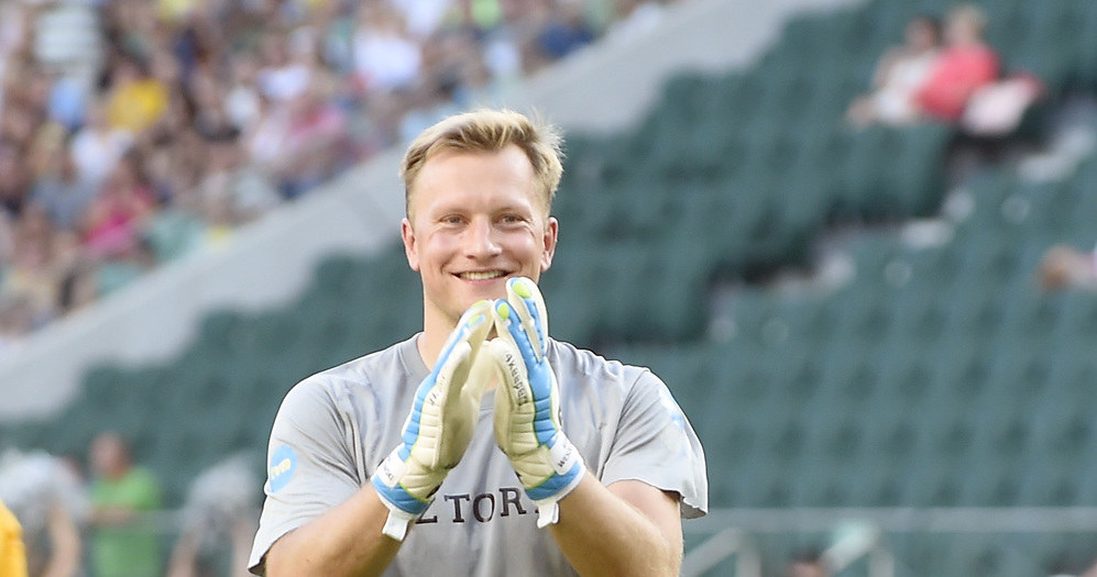
M 282 402 L 267 447 L 266 500 L 248 567 L 265 575 L 271 545 L 358 491 L 360 479 L 331 390 L 305 380 Z

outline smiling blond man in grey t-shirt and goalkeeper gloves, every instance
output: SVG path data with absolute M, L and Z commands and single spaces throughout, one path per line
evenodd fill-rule
M 558 137 L 509 111 L 412 143 L 423 332 L 286 396 L 253 572 L 678 575 L 681 518 L 707 507 L 696 435 L 650 371 L 548 339 L 561 170 Z

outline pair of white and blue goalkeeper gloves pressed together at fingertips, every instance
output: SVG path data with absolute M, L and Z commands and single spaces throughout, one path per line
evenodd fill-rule
M 537 504 L 537 526 L 559 520 L 558 501 L 586 470 L 560 428 L 560 390 L 548 358 L 548 315 L 537 285 L 506 284 L 506 299 L 469 308 L 415 393 L 401 444 L 371 478 L 388 508 L 383 533 L 403 541 L 472 440 L 487 380 L 497 377 L 495 441 Z M 492 326 L 498 335 L 487 341 Z

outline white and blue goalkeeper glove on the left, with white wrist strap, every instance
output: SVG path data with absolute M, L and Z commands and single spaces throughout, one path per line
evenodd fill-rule
M 370 481 L 390 510 L 384 534 L 403 541 L 408 523 L 430 506 L 438 486 L 469 447 L 486 380 L 472 366 L 487 332 L 492 303 L 469 308 L 419 385 L 404 422 L 402 443 Z

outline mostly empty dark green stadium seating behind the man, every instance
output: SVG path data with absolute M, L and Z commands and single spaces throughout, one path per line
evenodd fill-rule
M 1097 89 L 1097 2 L 977 4 L 1008 69 L 1053 98 Z M 853 242 L 851 282 L 744 289 L 712 336 L 715 280 L 803 266 L 835 225 L 940 213 L 952 129 L 858 132 L 843 113 L 906 22 L 951 5 L 798 18 L 750 69 L 682 74 L 629 131 L 568 138 L 544 278 L 552 331 L 669 384 L 705 446 L 714 507 L 1097 507 L 1097 298 L 1043 295 L 1032 279 L 1047 246 L 1093 244 L 1094 156 L 1045 184 L 987 168 L 965 184 L 975 208 L 944 244 L 880 228 Z M 178 504 L 227 454 L 251 451 L 261 468 L 285 391 L 412 334 L 420 307 L 399 247 L 333 255 L 290 306 L 211 313 L 175 359 L 107 364 L 58 419 L 0 434 L 76 454 L 110 423 Z M 759 545 L 787 558 L 801 545 L 790 539 Z M 889 545 L 900 575 L 1036 575 L 1097 554 L 1091 537 L 1054 534 Z

